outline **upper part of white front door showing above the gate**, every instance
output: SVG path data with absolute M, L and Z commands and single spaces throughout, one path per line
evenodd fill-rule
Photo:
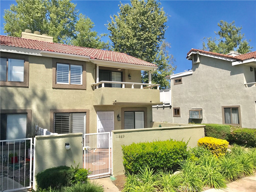
M 114 111 L 97 112 L 97 132 L 111 132 L 114 130 Z

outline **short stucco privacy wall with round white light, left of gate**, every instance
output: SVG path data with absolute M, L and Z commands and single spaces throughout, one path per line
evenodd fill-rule
M 70 149 L 66 150 L 65 143 Z M 75 163 L 74 163 L 75 162 Z M 82 133 L 41 135 L 35 137 L 34 173 L 61 165 L 83 166 Z

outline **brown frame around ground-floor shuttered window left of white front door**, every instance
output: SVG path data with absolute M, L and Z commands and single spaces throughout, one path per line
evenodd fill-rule
M 51 109 L 50 110 L 50 132 L 54 133 L 54 115 L 55 113 L 86 113 L 86 133 L 89 133 L 89 109 Z

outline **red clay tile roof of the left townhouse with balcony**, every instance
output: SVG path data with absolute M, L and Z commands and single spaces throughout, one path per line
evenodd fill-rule
M 66 53 L 66 54 L 73 54 L 73 55 L 81 55 L 81 56 L 88 56 L 93 59 L 99 59 L 104 61 L 131 63 L 135 65 L 156 67 L 156 65 L 153 63 L 149 63 L 141 59 L 137 59 L 125 53 L 86 48 L 86 47 L 78 47 L 73 45 L 64 45 L 59 43 L 51 43 L 51 42 L 38 41 L 38 40 L 32 40 L 32 39 L 24 39 L 19 37 L 10 37 L 5 35 L 0 35 L 0 45 L 21 47 L 21 48 L 27 48 L 27 49 L 36 49 L 36 50 L 42 50 L 42 51 L 51 51 L 51 52 L 58 52 L 58 53 Z

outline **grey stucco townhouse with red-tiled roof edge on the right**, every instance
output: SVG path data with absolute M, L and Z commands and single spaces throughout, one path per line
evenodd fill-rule
M 153 121 L 256 128 L 256 51 L 223 55 L 191 49 L 187 59 L 191 70 L 166 77 L 171 106 L 154 106 Z

